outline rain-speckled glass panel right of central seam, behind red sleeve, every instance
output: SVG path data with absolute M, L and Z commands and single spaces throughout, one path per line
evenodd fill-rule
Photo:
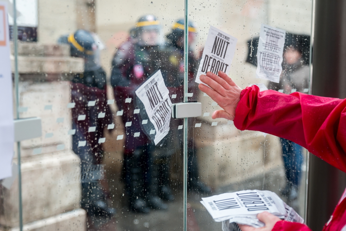
M 214 222 L 199 202 L 201 197 L 245 189 L 273 191 L 304 217 L 307 151 L 273 135 L 239 131 L 232 121 L 211 119 L 220 107 L 197 89 L 194 78 L 212 25 L 238 39 L 229 76 L 240 87 L 264 83 L 285 94 L 307 93 L 311 8 L 310 0 L 189 1 L 190 24 L 197 30 L 189 34 L 189 92 L 193 92 L 191 100 L 202 103 L 202 116 L 189 119 L 191 229 L 221 230 L 221 222 Z M 255 78 L 262 23 L 286 30 L 283 71 L 277 84 Z

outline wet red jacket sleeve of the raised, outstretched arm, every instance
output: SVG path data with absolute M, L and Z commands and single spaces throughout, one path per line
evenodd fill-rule
M 240 95 L 234 125 L 291 140 L 346 172 L 346 99 L 247 87 Z

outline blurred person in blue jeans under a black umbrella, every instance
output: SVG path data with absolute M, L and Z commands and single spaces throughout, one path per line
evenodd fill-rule
M 304 92 L 309 87 L 309 48 L 310 37 L 306 35 L 286 34 L 283 52 L 283 72 L 280 83 L 270 82 L 268 89 L 283 90 L 285 94 L 294 91 Z M 281 194 L 290 201 L 297 199 L 304 161 L 302 146 L 280 138 L 287 184 Z

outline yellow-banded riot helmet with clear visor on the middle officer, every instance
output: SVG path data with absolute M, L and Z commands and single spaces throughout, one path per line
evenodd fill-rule
M 162 26 L 154 15 L 140 17 L 132 33 L 138 44 L 142 46 L 158 46 L 163 42 Z

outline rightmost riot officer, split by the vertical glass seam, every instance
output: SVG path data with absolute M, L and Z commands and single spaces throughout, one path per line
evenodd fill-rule
M 198 86 L 194 82 L 199 63 L 191 49 L 191 44 L 194 43 L 196 38 L 196 31 L 196 25 L 192 21 L 189 21 L 188 92 L 193 93 L 193 96 L 189 97 L 189 101 L 197 101 L 199 94 Z M 168 64 L 163 65 L 163 69 L 167 72 L 166 85 L 167 87 L 173 88 L 169 88 L 170 92 L 175 92 L 172 94 L 177 94 L 177 97 L 172 99 L 172 103 L 181 103 L 183 102 L 184 92 L 184 19 L 177 19 L 172 25 L 171 33 L 167 34 L 166 37 L 169 39 L 167 43 Z M 195 119 L 196 118 L 189 118 L 188 123 L 194 124 Z M 181 140 L 182 130 L 179 131 L 180 136 L 178 138 Z M 197 146 L 193 138 L 193 128 L 190 126 L 188 134 L 188 189 L 208 194 L 211 192 L 210 187 L 199 180 L 198 161 L 196 156 Z M 179 140 L 176 143 L 181 144 Z

